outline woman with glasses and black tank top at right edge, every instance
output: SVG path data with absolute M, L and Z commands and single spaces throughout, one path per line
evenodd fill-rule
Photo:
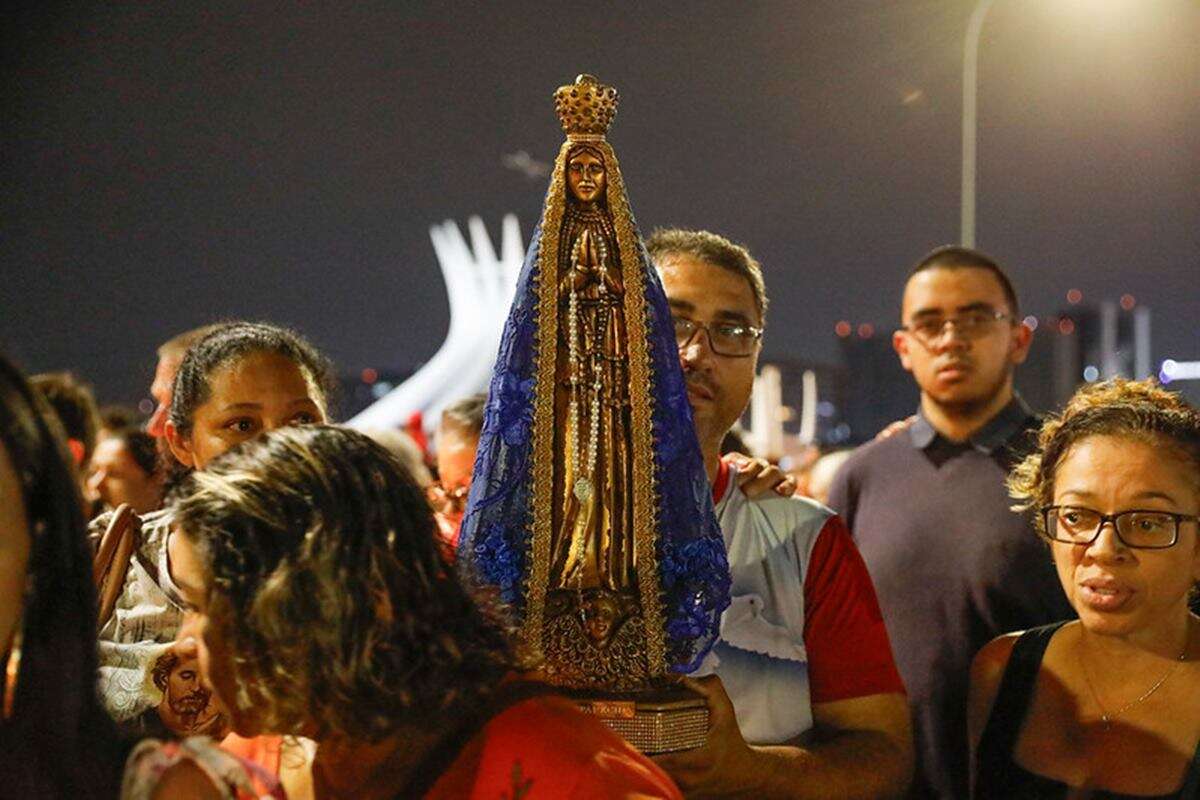
M 1198 796 L 1200 413 L 1151 381 L 1086 386 L 1009 488 L 1079 619 L 976 657 L 974 796 Z

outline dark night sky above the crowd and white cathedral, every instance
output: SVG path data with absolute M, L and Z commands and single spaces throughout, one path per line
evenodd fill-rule
M 514 211 L 529 236 L 546 179 L 505 156 L 553 160 L 578 72 L 620 91 L 642 229 L 763 263 L 768 357 L 890 330 L 910 265 L 958 239 L 971 1 L 336 5 L 8 18 L 0 349 L 104 402 L 217 318 L 415 367 L 449 319 L 430 224 L 498 237 Z M 979 76 L 978 245 L 1025 307 L 1132 293 L 1156 360 L 1200 359 L 1200 2 L 997 0 Z

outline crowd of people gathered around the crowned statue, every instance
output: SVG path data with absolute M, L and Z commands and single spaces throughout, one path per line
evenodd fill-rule
M 646 243 L 732 579 L 702 747 L 637 752 L 460 581 L 486 396 L 432 452 L 354 432 L 319 349 L 232 321 L 160 348 L 144 423 L 0 356 L 0 796 L 1200 796 L 1200 411 L 1038 417 L 1014 285 L 943 247 L 895 287 L 919 408 L 803 497 L 727 452 L 763 270 Z

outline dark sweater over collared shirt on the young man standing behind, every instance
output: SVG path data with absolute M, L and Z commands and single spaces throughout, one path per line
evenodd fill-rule
M 967 796 L 966 696 L 979 648 L 1073 616 L 1049 551 L 1004 485 L 1037 423 L 1014 396 L 955 443 L 918 413 L 907 435 L 854 451 L 829 492 L 866 560 L 908 688 L 916 796 Z

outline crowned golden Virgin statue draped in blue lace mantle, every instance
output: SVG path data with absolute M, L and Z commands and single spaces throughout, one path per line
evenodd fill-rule
M 695 698 L 668 676 L 715 642 L 724 542 L 666 297 L 605 138 L 617 91 L 580 76 L 554 104 L 566 142 L 502 338 L 460 563 L 514 608 L 541 679 L 638 724 L 659 715 L 643 728 L 686 708 L 702 741 Z M 640 745 L 700 744 L 667 739 Z

